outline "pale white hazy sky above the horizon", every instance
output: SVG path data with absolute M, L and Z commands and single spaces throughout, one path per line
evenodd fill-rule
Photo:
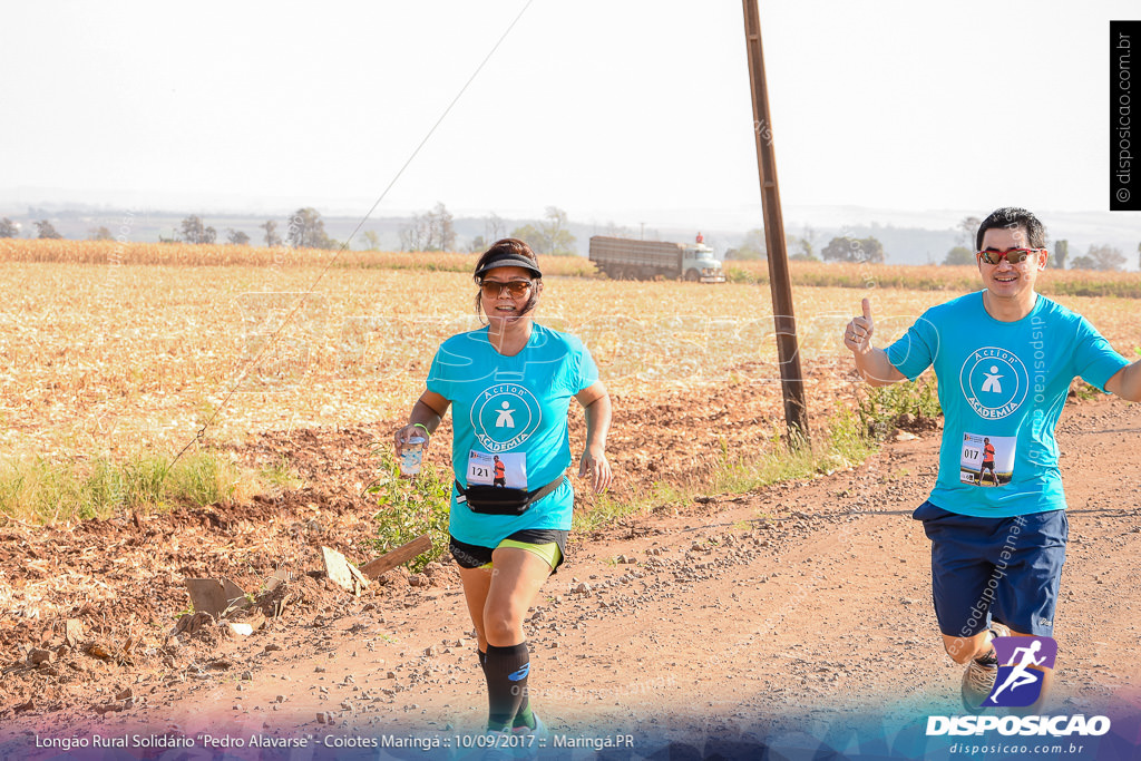
M 0 200 L 363 213 L 525 5 L 10 5 Z M 786 207 L 1107 208 L 1135 0 L 760 5 Z M 533 0 L 378 213 L 759 214 L 751 124 L 739 2 Z

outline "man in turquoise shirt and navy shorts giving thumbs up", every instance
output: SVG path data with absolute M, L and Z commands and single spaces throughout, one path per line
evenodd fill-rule
M 887 350 L 872 346 L 867 299 L 844 332 L 857 371 L 873 386 L 915 380 L 931 365 L 939 379 L 939 477 L 913 517 L 931 540 L 936 617 L 948 655 L 966 665 L 962 694 L 971 711 L 994 687 L 994 637 L 1006 628 L 1015 637 L 1053 634 L 1068 536 L 1054 428 L 1070 381 L 1082 377 L 1141 400 L 1141 362 L 1130 364 L 1084 317 L 1035 292 L 1047 252 L 1034 214 L 994 211 L 976 244 L 982 291 L 928 309 Z M 1015 447 L 1008 483 L 964 483 L 964 436 Z M 1031 713 L 1053 679 L 1051 669 L 1042 671 Z

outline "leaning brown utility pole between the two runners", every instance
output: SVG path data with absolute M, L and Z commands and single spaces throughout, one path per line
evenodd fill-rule
M 748 82 L 753 91 L 753 137 L 756 140 L 756 169 L 761 178 L 761 208 L 764 213 L 764 245 L 769 251 L 769 288 L 772 291 L 772 319 L 777 333 L 777 361 L 780 364 L 780 391 L 790 442 L 809 442 L 808 405 L 804 378 L 796 346 L 796 317 L 792 306 L 792 278 L 785 249 L 780 192 L 777 187 L 776 152 L 772 148 L 772 120 L 769 116 L 768 82 L 761 48 L 761 18 L 758 0 L 743 0 L 745 46 L 748 49 Z

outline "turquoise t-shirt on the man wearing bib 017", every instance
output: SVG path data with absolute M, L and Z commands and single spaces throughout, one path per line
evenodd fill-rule
M 1002 322 L 982 292 L 928 309 L 888 359 L 909 380 L 934 365 L 942 406 L 939 479 L 931 503 L 1006 518 L 1066 507 L 1054 428 L 1070 381 L 1106 390 L 1128 364 L 1085 317 L 1044 296 Z

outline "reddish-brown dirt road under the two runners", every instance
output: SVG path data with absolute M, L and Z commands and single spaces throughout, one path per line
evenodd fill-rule
M 1139 432 L 1141 405 L 1115 400 L 1070 406 L 1059 428 L 1070 505 L 1055 633 L 1061 713 L 1111 705 L 1123 722 L 1141 715 Z M 842 748 L 859 742 L 843 734 L 847 720 L 880 722 L 891 736 L 928 714 L 961 713 L 961 667 L 939 645 L 929 544 L 911 519 L 933 483 L 937 448 L 930 434 L 851 471 L 580 536 L 527 624 L 536 711 L 566 737 L 630 734 L 639 754 L 674 742 L 691 756 L 744 753 L 762 739 L 816 747 L 827 738 Z M 266 505 L 260 516 L 196 516 L 147 541 L 181 537 L 191 548 L 229 532 L 235 552 L 256 542 L 252 520 L 343 539 L 355 515 L 326 504 L 314 528 Z M 135 529 L 116 531 L 107 539 Z M 29 536 L 3 539 L 9 575 L 13 562 L 49 554 Z M 359 551 L 347 541 L 346 551 Z M 157 547 L 145 551 L 162 557 Z M 256 576 L 264 569 L 251 557 Z M 155 596 L 167 599 L 160 590 L 177 577 L 175 566 L 152 576 Z M 199 635 L 122 664 L 76 651 L 57 658 L 56 677 L 9 669 L 0 755 L 33 734 L 447 737 L 478 728 L 486 697 L 454 566 L 434 568 L 426 585 L 400 576 L 361 599 L 302 582 L 292 613 L 248 638 Z M 589 591 L 574 591 L 580 583 Z M 26 651 L 3 656 L 18 664 Z M 589 750 L 572 743 L 563 752 Z

